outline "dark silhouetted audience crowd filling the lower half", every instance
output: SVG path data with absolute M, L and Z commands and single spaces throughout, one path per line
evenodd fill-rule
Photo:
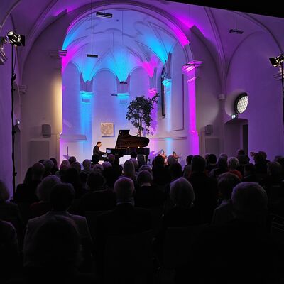
M 0 241 L 1 283 L 284 283 L 284 157 L 40 160 Z

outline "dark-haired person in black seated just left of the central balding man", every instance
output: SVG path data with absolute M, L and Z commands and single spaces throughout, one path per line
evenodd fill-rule
M 80 212 L 84 215 L 86 211 L 106 211 L 114 209 L 116 196 L 108 190 L 106 180 L 102 173 L 93 172 L 87 180 L 89 192 L 80 199 Z

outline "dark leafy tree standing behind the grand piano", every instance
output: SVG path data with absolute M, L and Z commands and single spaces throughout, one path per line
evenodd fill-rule
M 137 136 L 141 137 L 143 131 L 151 133 L 149 129 L 153 121 L 151 111 L 156 102 L 158 102 L 158 93 L 151 99 L 141 96 L 129 103 L 126 119 L 131 121 L 131 124 L 137 129 Z

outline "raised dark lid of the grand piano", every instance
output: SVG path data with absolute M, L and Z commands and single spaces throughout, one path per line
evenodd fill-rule
M 129 129 L 119 130 L 115 148 L 143 148 L 149 143 L 147 137 L 132 136 L 129 134 Z

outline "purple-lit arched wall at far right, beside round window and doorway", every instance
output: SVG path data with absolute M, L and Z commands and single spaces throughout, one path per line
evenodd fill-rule
M 255 33 L 236 50 L 227 77 L 229 94 L 244 89 L 249 95 L 248 108 L 239 115 L 249 120 L 249 152 L 266 151 L 268 159 L 284 153 L 281 83 L 268 60 L 278 53 L 271 37 Z

